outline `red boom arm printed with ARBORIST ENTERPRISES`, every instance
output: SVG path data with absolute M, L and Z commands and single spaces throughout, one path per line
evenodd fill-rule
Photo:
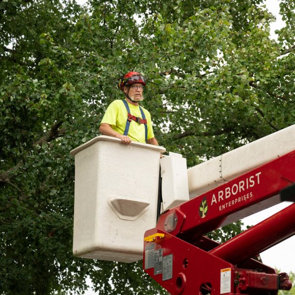
M 295 151 L 172 208 L 160 216 L 156 227 L 165 230 L 167 215 L 175 212 L 181 224 L 171 234 L 181 236 L 184 240 L 191 240 L 191 237 L 198 239 L 220 226 L 268 207 L 267 199 L 295 182 L 295 171 L 290 167 L 295 167 Z M 207 213 L 201 216 L 199 208 L 205 200 Z

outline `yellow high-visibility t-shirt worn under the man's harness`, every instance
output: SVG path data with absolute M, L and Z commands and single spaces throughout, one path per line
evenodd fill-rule
M 128 103 L 128 102 L 127 102 Z M 130 113 L 133 116 L 142 118 L 141 111 L 139 109 L 139 106 L 134 106 L 130 103 L 128 103 Z M 152 123 L 151 118 L 148 110 L 141 107 L 144 111 L 144 114 L 147 119 L 147 125 L 148 125 L 148 139 L 153 138 L 153 130 L 152 130 Z M 104 114 L 101 123 L 107 123 L 111 125 L 111 127 L 117 131 L 120 134 L 124 134 L 126 121 L 127 121 L 127 110 L 124 106 L 124 103 L 122 100 L 117 99 L 114 100 L 107 108 L 106 113 Z M 131 120 L 128 136 L 132 141 L 140 142 L 140 143 L 146 143 L 145 138 L 145 124 L 139 124 L 135 122 L 134 120 Z

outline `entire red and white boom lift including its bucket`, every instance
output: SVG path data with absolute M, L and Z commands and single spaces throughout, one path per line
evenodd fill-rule
M 287 273 L 258 257 L 295 235 L 294 135 L 295 125 L 188 170 L 181 155 L 170 153 L 160 160 L 159 198 L 164 148 L 92 139 L 71 151 L 74 255 L 130 263 L 144 250 L 144 270 L 172 295 L 290 290 Z M 125 177 L 121 171 L 128 167 L 141 173 Z M 283 201 L 292 205 L 223 244 L 206 236 Z

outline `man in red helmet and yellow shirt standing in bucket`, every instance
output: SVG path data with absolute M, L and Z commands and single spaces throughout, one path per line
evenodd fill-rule
M 125 100 L 117 99 L 108 106 L 100 122 L 101 134 L 117 137 L 124 145 L 136 141 L 158 146 L 150 114 L 139 106 L 146 85 L 145 78 L 138 72 L 129 72 L 120 79 L 118 88 L 124 92 Z

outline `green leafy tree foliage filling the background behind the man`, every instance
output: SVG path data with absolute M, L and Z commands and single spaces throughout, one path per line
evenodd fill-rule
M 159 143 L 189 166 L 295 123 L 295 3 L 0 0 L 0 293 L 164 294 L 141 270 L 72 256 L 74 160 L 136 70 Z M 231 225 L 216 239 L 240 231 Z M 113 282 L 111 284 L 110 282 Z

